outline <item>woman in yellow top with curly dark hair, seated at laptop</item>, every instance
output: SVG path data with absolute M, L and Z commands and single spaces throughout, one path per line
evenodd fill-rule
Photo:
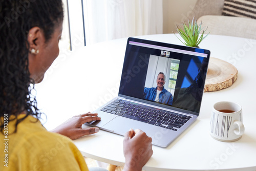
M 100 118 L 90 112 L 74 116 L 55 133 L 48 132 L 31 94 L 59 53 L 61 0 L 0 2 L 0 137 L 5 141 L 0 147 L 4 158 L 0 170 L 88 170 L 71 139 L 98 132 L 81 125 Z M 142 169 L 153 154 L 151 142 L 140 130 L 125 134 L 124 170 Z M 139 149 L 143 153 L 138 154 Z

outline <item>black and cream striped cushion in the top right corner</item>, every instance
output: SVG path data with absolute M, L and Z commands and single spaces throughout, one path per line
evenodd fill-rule
M 222 15 L 256 19 L 256 0 L 225 0 Z

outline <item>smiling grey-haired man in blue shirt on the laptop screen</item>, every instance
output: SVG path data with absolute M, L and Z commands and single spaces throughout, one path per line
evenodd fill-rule
M 173 95 L 164 89 L 165 75 L 160 72 L 157 76 L 157 87 L 156 88 L 144 88 L 144 98 L 147 100 L 153 100 L 163 104 L 172 105 Z

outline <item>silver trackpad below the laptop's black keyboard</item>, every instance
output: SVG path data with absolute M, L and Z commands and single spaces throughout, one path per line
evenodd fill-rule
M 142 131 L 151 131 L 153 126 L 147 123 L 143 123 L 137 120 L 128 119 L 124 117 L 116 117 L 109 123 L 104 125 L 104 129 L 111 130 L 116 134 L 124 135 L 130 129 L 140 129 Z

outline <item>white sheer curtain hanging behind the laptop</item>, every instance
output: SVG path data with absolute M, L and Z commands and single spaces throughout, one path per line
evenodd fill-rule
M 83 0 L 83 11 L 87 45 L 163 32 L 162 0 Z

